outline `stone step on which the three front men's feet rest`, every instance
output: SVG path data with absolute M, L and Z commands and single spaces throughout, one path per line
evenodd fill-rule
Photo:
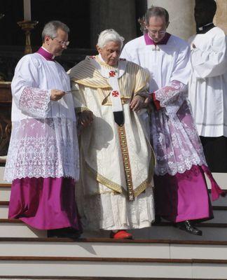
M 227 240 L 226 223 L 200 223 L 197 226 L 202 230 L 202 237 L 190 235 L 183 230 L 174 228 L 171 223 L 152 225 L 151 228 L 130 230 L 135 239 L 177 239 L 177 240 Z M 0 237 L 46 237 L 46 230 L 30 228 L 18 220 L 0 219 Z M 84 238 L 109 237 L 109 231 L 85 231 Z

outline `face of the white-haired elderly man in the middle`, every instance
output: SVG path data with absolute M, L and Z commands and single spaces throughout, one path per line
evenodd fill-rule
M 121 43 L 110 41 L 106 43 L 103 48 L 99 48 L 99 46 L 97 46 L 97 51 L 102 56 L 102 59 L 106 62 L 106 64 L 116 66 L 121 55 Z

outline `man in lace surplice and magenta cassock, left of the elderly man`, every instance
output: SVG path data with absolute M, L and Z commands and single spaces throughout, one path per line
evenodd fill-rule
M 69 45 L 69 27 L 43 29 L 43 45 L 20 59 L 12 81 L 12 134 L 5 180 L 13 181 L 9 218 L 49 237 L 78 237 L 75 180 L 78 141 L 69 76 L 55 56 Z

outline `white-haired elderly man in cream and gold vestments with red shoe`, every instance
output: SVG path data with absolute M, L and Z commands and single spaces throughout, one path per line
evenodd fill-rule
M 138 113 L 149 74 L 119 59 L 122 45 L 116 31 L 102 31 L 99 55 L 69 73 L 81 123 L 92 121 L 81 132 L 81 221 L 85 228 L 111 230 L 115 239 L 132 238 L 126 230 L 149 227 L 154 218 L 154 157 L 146 118 Z

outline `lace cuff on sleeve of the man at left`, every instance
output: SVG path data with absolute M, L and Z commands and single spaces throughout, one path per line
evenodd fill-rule
M 19 109 L 28 116 L 44 118 L 50 110 L 50 93 L 50 90 L 25 87 L 20 96 Z

